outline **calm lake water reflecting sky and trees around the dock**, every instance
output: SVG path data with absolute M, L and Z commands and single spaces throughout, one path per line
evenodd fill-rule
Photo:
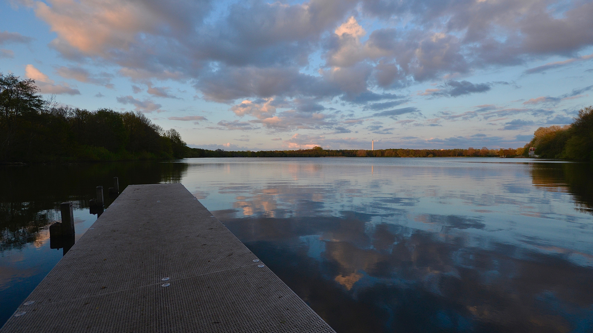
M 78 239 L 119 177 L 183 183 L 338 333 L 593 332 L 592 176 L 495 158 L 0 166 L 0 325 L 62 258 L 59 203 Z

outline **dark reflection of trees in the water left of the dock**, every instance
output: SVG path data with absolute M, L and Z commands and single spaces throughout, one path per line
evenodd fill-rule
M 61 218 L 63 201 L 88 209 L 95 187 L 111 187 L 113 177 L 123 191 L 128 184 L 180 182 L 186 171 L 187 164 L 160 162 L 0 165 L 0 251 L 43 238 L 43 230 Z M 114 200 L 107 193 L 104 199 L 105 206 Z

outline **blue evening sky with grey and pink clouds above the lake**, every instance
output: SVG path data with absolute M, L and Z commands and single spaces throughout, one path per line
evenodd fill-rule
M 593 104 L 592 17 L 563 0 L 1 0 L 0 72 L 196 148 L 518 148 Z

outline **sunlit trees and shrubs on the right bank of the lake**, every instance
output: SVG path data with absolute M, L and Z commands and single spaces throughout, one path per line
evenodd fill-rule
M 543 158 L 593 160 L 593 106 L 581 109 L 570 125 L 538 128 L 525 145 L 524 156 L 530 147 Z

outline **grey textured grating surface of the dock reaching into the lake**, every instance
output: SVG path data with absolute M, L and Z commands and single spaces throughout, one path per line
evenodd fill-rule
M 130 185 L 91 228 L 0 333 L 334 332 L 181 184 Z

